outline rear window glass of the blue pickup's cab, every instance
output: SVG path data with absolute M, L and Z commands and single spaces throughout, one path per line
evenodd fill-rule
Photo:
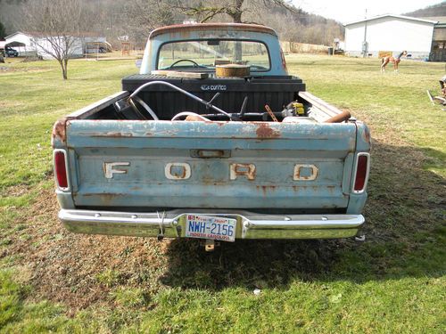
M 168 42 L 161 45 L 157 69 L 215 70 L 216 65 L 249 65 L 252 72 L 268 71 L 265 44 L 250 40 L 208 39 Z

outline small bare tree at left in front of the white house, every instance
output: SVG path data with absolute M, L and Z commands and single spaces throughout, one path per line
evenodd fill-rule
M 59 62 L 66 80 L 68 61 L 92 21 L 89 12 L 79 0 L 34 0 L 24 6 L 24 16 L 24 29 L 34 35 L 38 48 Z

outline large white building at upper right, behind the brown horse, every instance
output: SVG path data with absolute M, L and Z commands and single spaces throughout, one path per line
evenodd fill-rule
M 435 20 L 401 15 L 381 15 L 346 23 L 345 53 L 377 57 L 380 52 L 394 55 L 406 50 L 414 59 L 427 59 L 432 48 Z

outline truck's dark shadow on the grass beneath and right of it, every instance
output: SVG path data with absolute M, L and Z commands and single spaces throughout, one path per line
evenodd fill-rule
M 432 152 L 431 152 L 432 153 Z M 169 286 L 286 288 L 292 281 L 364 282 L 445 273 L 444 179 L 423 167 L 412 147 L 374 143 L 366 242 L 237 240 L 206 253 L 197 240 L 174 240 Z M 439 153 L 438 153 L 439 154 Z

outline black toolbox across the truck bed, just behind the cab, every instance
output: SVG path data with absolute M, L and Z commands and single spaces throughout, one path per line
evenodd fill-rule
M 289 102 L 298 99 L 298 93 L 305 91 L 305 84 L 301 78 L 292 76 L 277 77 L 231 77 L 207 79 L 188 79 L 177 77 L 164 77 L 152 74 L 136 74 L 122 79 L 122 90 L 129 94 L 135 92 L 136 88 L 148 82 L 168 82 L 187 92 L 192 93 L 203 100 L 211 101 L 215 94 L 219 96 L 212 104 L 227 112 L 239 112 L 247 98 L 246 112 L 263 112 L 265 104 L 271 110 L 283 110 Z M 186 95 L 176 92 L 166 86 L 150 86 L 138 94 L 157 114 L 161 120 L 170 120 L 182 111 L 194 111 L 198 114 L 207 114 L 209 108 L 199 102 L 191 100 Z M 115 110 L 103 110 L 95 114 L 95 118 L 116 119 L 120 118 Z M 138 119 L 137 115 L 128 116 Z

